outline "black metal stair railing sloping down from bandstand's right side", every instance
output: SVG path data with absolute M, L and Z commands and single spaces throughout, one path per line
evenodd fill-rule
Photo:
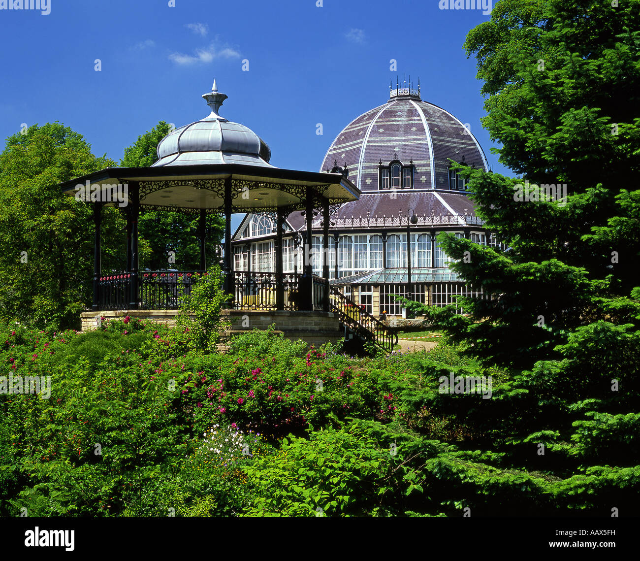
M 340 321 L 364 341 L 371 341 L 382 350 L 391 352 L 398 343 L 395 329 L 385 325 L 358 305 L 330 286 L 330 311 L 336 313 Z

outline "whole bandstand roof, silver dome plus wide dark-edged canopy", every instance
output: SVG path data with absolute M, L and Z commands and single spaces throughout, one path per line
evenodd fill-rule
M 308 193 L 330 204 L 360 196 L 344 174 L 269 164 L 271 150 L 257 134 L 218 115 L 227 95 L 215 81 L 202 97 L 211 113 L 164 136 L 152 166 L 104 168 L 61 183 L 61 191 L 107 206 L 135 202 L 147 209 L 232 213 L 296 211 L 306 206 Z

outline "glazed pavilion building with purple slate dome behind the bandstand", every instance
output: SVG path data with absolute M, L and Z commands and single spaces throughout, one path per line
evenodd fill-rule
M 393 295 L 442 307 L 456 295 L 475 293 L 447 266 L 436 236 L 451 232 L 483 245 L 499 243 L 475 215 L 468 180 L 452 162 L 488 170 L 468 125 L 422 101 L 420 86 L 390 87 L 388 101 L 342 129 L 324 156 L 321 171 L 344 175 L 362 194 L 332 206 L 328 252 L 324 218 L 316 212 L 314 272 L 328 263 L 332 287 L 376 317 L 404 316 Z M 305 213 L 292 212 L 284 227 L 284 272 L 294 273 L 304 266 Z M 273 215 L 246 213 L 232 238 L 235 270 L 274 270 L 274 232 Z

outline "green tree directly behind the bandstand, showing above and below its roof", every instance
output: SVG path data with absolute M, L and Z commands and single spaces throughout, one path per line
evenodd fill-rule
M 124 167 L 149 167 L 157 157 L 158 143 L 170 132 L 166 122 L 160 121 L 138 140 L 125 148 L 120 165 Z M 151 270 L 179 268 L 200 269 L 200 241 L 198 240 L 198 215 L 170 211 L 145 211 L 138 220 L 140 238 L 148 241 L 151 253 L 140 259 L 140 265 Z M 223 236 L 224 220 L 220 215 L 207 215 L 207 266 L 216 259 L 216 248 Z M 169 252 L 175 252 L 175 266 L 169 263 Z

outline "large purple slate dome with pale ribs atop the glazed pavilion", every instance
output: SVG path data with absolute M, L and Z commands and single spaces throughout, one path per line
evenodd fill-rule
M 488 170 L 473 134 L 448 111 L 420 99 L 420 91 L 391 90 L 390 99 L 355 118 L 333 141 L 321 167 L 348 168 L 361 191 L 378 191 L 380 161 L 415 165 L 414 190 L 449 190 L 449 158 Z

